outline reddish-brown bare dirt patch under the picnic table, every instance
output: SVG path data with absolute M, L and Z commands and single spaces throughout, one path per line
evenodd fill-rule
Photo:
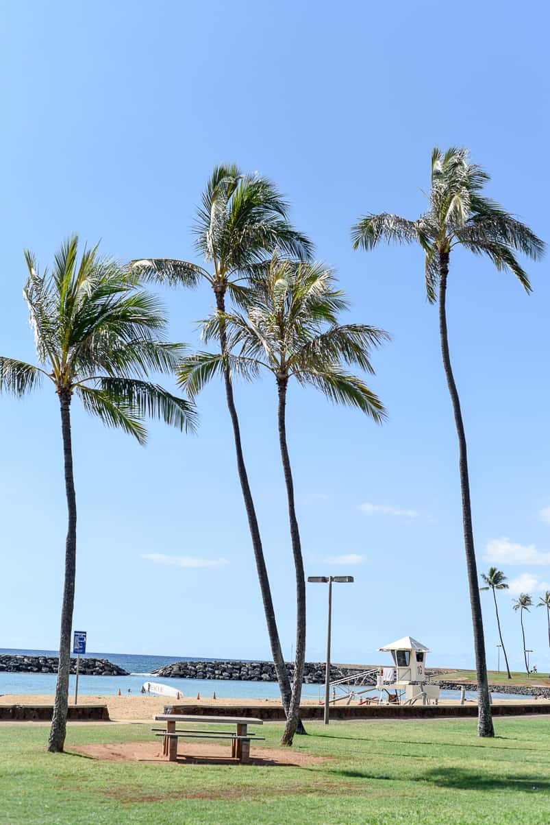
M 85 757 L 106 759 L 115 762 L 158 762 L 163 765 L 236 765 L 240 763 L 231 756 L 229 745 L 210 742 L 186 742 L 180 746 L 176 762 L 167 761 L 158 742 L 120 742 L 115 744 L 74 745 L 71 751 Z M 248 764 L 263 766 L 308 767 L 331 761 L 331 757 L 313 757 L 309 753 L 293 748 L 261 747 L 252 748 Z

